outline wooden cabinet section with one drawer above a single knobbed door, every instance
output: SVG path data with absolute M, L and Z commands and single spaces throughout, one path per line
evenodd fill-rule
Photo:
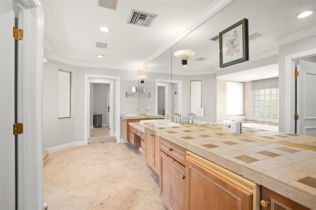
M 160 198 L 170 210 L 185 207 L 185 154 L 184 148 L 160 138 L 159 191 Z

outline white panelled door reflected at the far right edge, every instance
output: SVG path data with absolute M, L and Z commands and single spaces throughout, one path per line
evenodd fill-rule
M 316 63 L 299 60 L 297 71 L 297 134 L 316 137 Z

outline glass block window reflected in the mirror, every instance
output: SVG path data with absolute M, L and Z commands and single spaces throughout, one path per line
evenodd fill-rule
M 254 116 L 278 119 L 278 88 L 254 90 Z

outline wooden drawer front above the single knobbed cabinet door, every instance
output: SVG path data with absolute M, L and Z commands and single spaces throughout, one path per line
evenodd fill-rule
M 172 143 L 166 139 L 160 138 L 160 150 L 181 163 L 186 164 L 186 149 Z

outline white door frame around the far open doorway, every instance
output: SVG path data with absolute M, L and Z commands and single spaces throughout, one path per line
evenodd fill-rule
M 116 86 L 114 89 L 114 82 Z M 90 83 L 105 83 L 110 84 L 111 105 L 112 111 L 110 112 L 110 127 L 112 128 L 110 136 L 117 137 L 117 143 L 120 143 L 120 76 L 98 75 L 98 74 L 84 74 L 84 127 L 83 127 L 83 140 L 87 145 L 88 137 L 90 136 Z M 115 100 L 114 100 L 115 91 Z M 116 112 L 113 111 L 113 107 L 116 107 Z M 116 120 L 114 133 L 114 119 Z

